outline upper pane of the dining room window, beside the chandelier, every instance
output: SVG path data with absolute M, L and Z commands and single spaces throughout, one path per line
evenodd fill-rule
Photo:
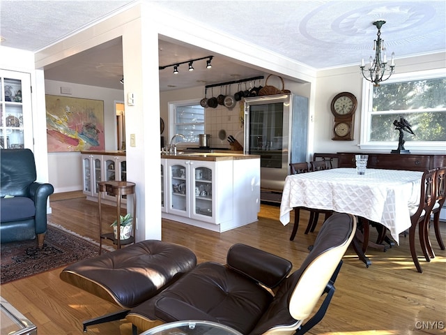
M 446 78 L 380 84 L 374 87 L 373 111 L 446 108 Z

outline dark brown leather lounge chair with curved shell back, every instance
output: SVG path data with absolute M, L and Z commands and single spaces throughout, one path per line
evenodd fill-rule
M 307 258 L 290 276 L 291 262 L 236 244 L 228 251 L 226 265 L 197 265 L 155 297 L 132 308 L 126 318 L 143 331 L 159 325 L 160 320 L 205 320 L 242 334 L 304 334 L 325 315 L 341 258 L 355 230 L 355 216 L 334 214 L 328 218 Z M 316 305 L 320 308 L 313 314 Z

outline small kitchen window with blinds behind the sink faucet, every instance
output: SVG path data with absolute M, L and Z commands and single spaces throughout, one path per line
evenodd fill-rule
M 198 143 L 198 135 L 204 133 L 204 108 L 199 103 L 173 103 L 170 110 L 175 120 L 173 134 L 185 135 L 184 142 Z

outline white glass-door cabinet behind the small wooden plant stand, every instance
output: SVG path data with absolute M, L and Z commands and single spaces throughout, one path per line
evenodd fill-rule
M 100 153 L 83 153 L 81 156 L 84 175 L 83 192 L 88 200 L 98 201 L 98 184 L 100 181 L 127 180 L 125 156 Z M 101 197 L 104 199 L 105 204 L 116 205 L 115 196 L 102 193 Z M 123 204 L 127 202 L 125 195 L 123 195 L 121 202 Z

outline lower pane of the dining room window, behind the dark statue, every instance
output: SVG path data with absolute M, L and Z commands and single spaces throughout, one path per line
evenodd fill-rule
M 371 141 L 397 141 L 399 131 L 395 130 L 394 120 L 406 119 L 413 133 L 404 133 L 406 142 L 446 141 L 446 111 L 418 112 L 410 114 L 372 114 Z

